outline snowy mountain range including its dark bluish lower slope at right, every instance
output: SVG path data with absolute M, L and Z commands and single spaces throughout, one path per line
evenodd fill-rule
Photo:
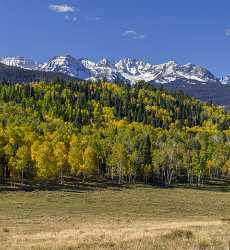
M 95 82 L 106 80 L 135 84 L 145 81 L 170 91 L 182 90 L 202 101 L 230 106 L 230 76 L 218 78 L 206 68 L 191 63 L 178 64 L 169 61 L 155 65 L 130 58 L 117 62 L 104 58 L 93 62 L 87 58 L 76 59 L 70 55 L 56 56 L 46 63 L 37 63 L 24 57 L 0 58 L 0 63 L 33 72 L 53 72 Z

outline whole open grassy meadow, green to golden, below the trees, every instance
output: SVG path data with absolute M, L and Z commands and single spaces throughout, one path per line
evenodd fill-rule
M 228 249 L 230 193 L 150 186 L 0 192 L 0 249 Z

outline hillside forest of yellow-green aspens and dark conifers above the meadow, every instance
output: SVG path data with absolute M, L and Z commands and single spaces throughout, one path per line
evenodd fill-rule
M 148 84 L 0 85 L 0 183 L 108 178 L 201 184 L 230 175 L 230 115 Z

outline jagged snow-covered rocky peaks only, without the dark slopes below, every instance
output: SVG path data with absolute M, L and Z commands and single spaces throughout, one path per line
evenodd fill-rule
M 56 56 L 41 65 L 23 57 L 4 58 L 0 62 L 27 69 L 60 72 L 79 79 L 93 81 L 106 79 L 110 82 L 129 82 L 131 84 L 135 84 L 140 80 L 158 84 L 172 83 L 177 80 L 184 80 L 190 84 L 219 82 L 205 68 L 193 64 L 181 65 L 174 61 L 154 65 L 130 58 L 112 63 L 104 58 L 95 63 L 87 58 L 76 59 L 67 55 Z M 222 81 L 223 84 L 227 82 L 230 82 L 230 77 L 224 78 Z

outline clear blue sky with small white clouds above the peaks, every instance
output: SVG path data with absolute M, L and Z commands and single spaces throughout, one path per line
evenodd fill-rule
M 175 60 L 230 74 L 229 0 L 1 0 L 0 56 Z

